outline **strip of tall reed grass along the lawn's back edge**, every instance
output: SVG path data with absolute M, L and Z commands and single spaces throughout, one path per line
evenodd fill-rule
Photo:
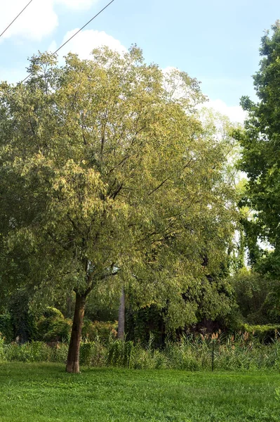
M 68 343 L 48 345 L 32 342 L 18 345 L 4 344 L 0 339 L 0 361 L 65 362 Z M 252 338 L 248 333 L 212 336 L 188 335 L 177 343 L 167 341 L 163 350 L 153 347 L 151 336 L 148 345 L 122 342 L 110 337 L 81 343 L 80 362 L 86 366 L 119 366 L 131 369 L 185 369 L 206 371 L 212 366 L 222 371 L 280 370 L 280 338 L 267 345 Z

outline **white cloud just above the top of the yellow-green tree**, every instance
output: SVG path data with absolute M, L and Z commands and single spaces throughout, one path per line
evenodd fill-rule
M 78 29 L 68 31 L 61 44 L 72 37 L 77 30 Z M 91 58 L 91 51 L 100 46 L 108 46 L 110 49 L 119 51 L 120 53 L 126 51 L 126 47 L 124 47 L 118 39 L 106 34 L 106 32 L 85 30 L 79 32 L 76 37 L 62 47 L 60 55 L 65 56 L 69 51 L 71 51 L 71 53 L 79 54 L 79 58 Z

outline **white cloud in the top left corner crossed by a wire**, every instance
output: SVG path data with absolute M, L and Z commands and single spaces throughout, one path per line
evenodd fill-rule
M 58 15 L 55 5 L 69 9 L 90 8 L 99 0 L 34 0 L 3 34 L 1 41 L 10 37 L 23 37 L 40 41 L 58 27 Z M 27 0 L 6 1 L 0 13 L 0 33 L 12 22 L 26 6 Z

